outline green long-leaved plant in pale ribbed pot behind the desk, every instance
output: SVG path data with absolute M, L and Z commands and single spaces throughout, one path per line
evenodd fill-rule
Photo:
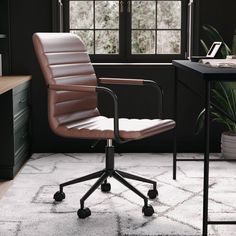
M 236 54 L 236 31 L 233 37 L 232 51 L 224 42 L 218 31 L 210 26 L 204 25 L 210 41 L 221 41 L 223 46 L 219 57 L 226 58 L 229 54 Z M 205 51 L 208 51 L 206 43 L 201 40 Z M 236 82 L 216 82 L 211 90 L 212 102 L 221 110 L 225 111 L 230 117 L 236 120 Z M 225 125 L 227 130 L 221 135 L 221 154 L 226 159 L 236 159 L 236 123 L 229 119 L 228 116 L 220 112 L 219 109 L 211 107 L 212 120 Z M 196 133 L 199 133 L 204 124 L 205 110 L 203 110 L 196 122 Z

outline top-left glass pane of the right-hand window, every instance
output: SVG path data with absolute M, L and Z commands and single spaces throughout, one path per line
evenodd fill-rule
M 155 29 L 156 1 L 132 1 L 132 28 Z

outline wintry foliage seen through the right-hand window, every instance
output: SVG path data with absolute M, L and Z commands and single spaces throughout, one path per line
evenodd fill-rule
M 181 1 L 132 1 L 132 54 L 180 54 Z

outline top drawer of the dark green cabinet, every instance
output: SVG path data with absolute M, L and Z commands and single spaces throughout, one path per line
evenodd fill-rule
M 13 93 L 13 115 L 16 117 L 19 112 L 28 107 L 30 89 L 29 87 L 24 87 L 23 90 L 17 90 L 18 92 Z

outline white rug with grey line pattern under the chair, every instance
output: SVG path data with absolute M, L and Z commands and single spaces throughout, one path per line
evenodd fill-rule
M 198 154 L 179 154 L 199 158 Z M 218 156 L 219 157 L 219 156 Z M 203 162 L 178 162 L 172 180 L 170 154 L 117 154 L 117 169 L 157 181 L 155 213 L 142 215 L 143 200 L 109 179 L 111 192 L 96 190 L 86 201 L 92 215 L 78 219 L 79 199 L 94 180 L 65 187 L 66 199 L 52 199 L 58 184 L 104 168 L 104 154 L 34 154 L 0 200 L 1 236 L 197 236 L 202 228 Z M 236 220 L 236 163 L 210 163 L 209 217 Z M 130 181 L 144 194 L 148 184 Z M 235 236 L 236 226 L 211 225 L 209 235 Z

